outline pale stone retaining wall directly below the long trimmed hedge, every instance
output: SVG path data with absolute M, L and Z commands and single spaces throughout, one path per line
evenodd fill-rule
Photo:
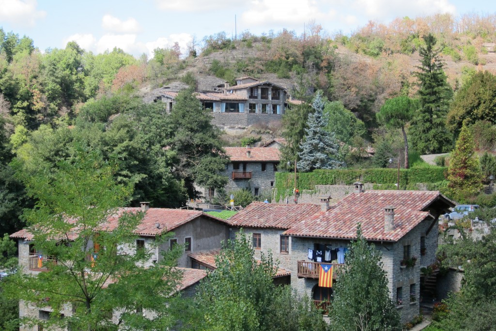
M 373 184 L 364 184 L 365 190 L 372 190 Z M 353 185 L 315 185 L 314 190 L 300 190 L 298 203 L 320 203 L 321 196 L 331 197 L 331 203 L 335 203 L 349 194 L 353 193 Z M 281 197 L 277 203 L 295 203 L 294 196 Z

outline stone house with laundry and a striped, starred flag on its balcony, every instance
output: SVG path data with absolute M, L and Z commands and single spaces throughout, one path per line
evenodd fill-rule
M 253 246 L 259 247 L 255 251 L 270 250 L 291 272 L 291 286 L 311 295 L 322 308 L 329 304 L 332 288 L 318 286 L 319 263 L 333 264 L 336 278 L 346 267 L 345 253 L 361 223 L 365 238 L 382 253 L 391 299 L 402 323 L 409 322 L 419 315 L 420 268 L 435 261 L 439 215 L 454 203 L 439 192 L 364 191 L 361 183 L 355 188 L 332 206 L 329 199 L 321 199 L 319 208 L 291 204 L 295 210 L 285 213 L 279 204 L 257 204 L 231 222 L 253 236 Z

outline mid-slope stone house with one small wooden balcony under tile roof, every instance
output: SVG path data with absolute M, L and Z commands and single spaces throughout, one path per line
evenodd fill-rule
M 262 193 L 270 195 L 279 167 L 279 148 L 248 146 L 224 149 L 230 160 L 224 171 L 229 178 L 226 191 L 247 189 L 255 197 Z

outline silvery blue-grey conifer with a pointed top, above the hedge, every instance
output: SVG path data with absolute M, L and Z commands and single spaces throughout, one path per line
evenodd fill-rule
M 339 145 L 334 133 L 325 130 L 327 120 L 323 116 L 324 105 L 322 91 L 317 91 L 312 103 L 314 112 L 309 114 L 308 129 L 305 129 L 305 139 L 300 144 L 301 152 L 298 153 L 300 171 L 334 169 L 341 165 L 341 162 L 335 159 L 339 152 Z

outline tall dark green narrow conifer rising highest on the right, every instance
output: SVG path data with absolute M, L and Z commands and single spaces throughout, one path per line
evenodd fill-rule
M 446 115 L 452 90 L 442 70 L 439 50 L 434 49 L 436 39 L 432 34 L 424 36 L 425 47 L 421 47 L 419 79 L 420 109 L 414 117 L 409 133 L 412 145 L 420 153 L 446 152 L 451 148 L 451 134 L 446 129 Z

